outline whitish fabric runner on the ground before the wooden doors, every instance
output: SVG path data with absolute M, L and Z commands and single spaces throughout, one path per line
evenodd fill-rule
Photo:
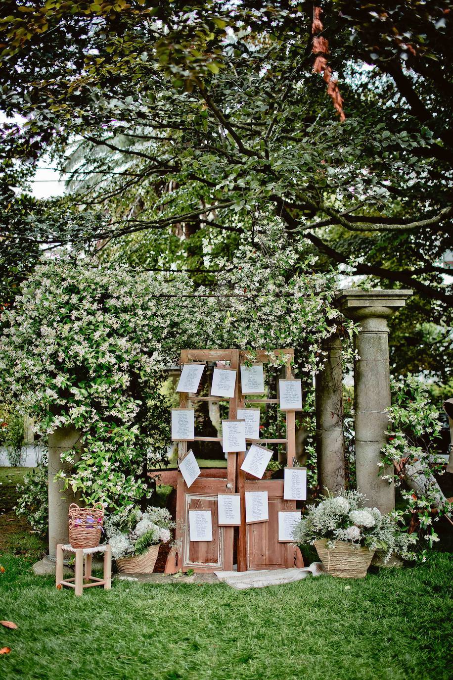
M 266 585 L 281 585 L 300 581 L 309 574 L 319 576 L 325 574 L 322 562 L 312 562 L 302 569 L 260 569 L 253 571 L 215 571 L 219 581 L 231 585 L 236 590 L 247 588 L 264 588 Z

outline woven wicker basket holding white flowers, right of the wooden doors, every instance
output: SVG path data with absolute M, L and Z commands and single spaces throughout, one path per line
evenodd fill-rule
M 331 576 L 342 579 L 364 579 L 372 562 L 374 550 L 367 547 L 352 547 L 346 541 L 336 541 L 333 550 L 327 550 L 327 541 L 314 541 L 314 547 Z

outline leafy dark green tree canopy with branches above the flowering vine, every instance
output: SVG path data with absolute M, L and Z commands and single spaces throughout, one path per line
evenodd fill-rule
M 4 5 L 0 107 L 26 118 L 4 126 L 5 182 L 50 153 L 73 214 L 6 188 L 10 252 L 94 243 L 215 283 L 215 256 L 284 237 L 319 269 L 413 288 L 397 367 L 409 352 L 448 377 L 448 3 Z

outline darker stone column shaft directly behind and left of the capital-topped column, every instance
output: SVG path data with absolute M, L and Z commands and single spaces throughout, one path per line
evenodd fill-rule
M 316 454 L 321 493 L 345 488 L 343 436 L 342 343 L 338 335 L 326 344 L 327 362 L 316 375 Z

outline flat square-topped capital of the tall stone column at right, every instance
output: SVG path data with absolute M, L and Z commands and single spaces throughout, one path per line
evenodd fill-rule
M 404 307 L 412 290 L 361 290 L 349 288 L 336 297 L 336 306 L 354 321 L 362 323 L 363 330 L 388 333 L 387 318 L 399 307 Z

